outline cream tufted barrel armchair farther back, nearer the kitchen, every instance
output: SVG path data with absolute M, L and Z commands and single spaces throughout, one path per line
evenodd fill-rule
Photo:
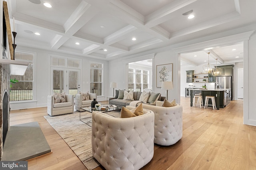
M 182 106 L 161 107 L 162 103 L 156 101 L 156 106 L 143 104 L 143 109 L 152 110 L 155 114 L 154 143 L 169 146 L 182 137 Z

